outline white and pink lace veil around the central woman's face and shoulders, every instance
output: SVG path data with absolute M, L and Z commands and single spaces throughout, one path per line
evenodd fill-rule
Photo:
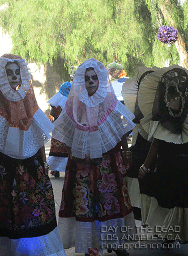
M 98 89 L 88 96 L 85 71 L 93 68 Z M 115 97 L 105 66 L 95 60 L 83 62 L 76 71 L 64 110 L 54 122 L 52 137 L 72 148 L 78 158 L 102 157 L 135 125 L 134 115 Z

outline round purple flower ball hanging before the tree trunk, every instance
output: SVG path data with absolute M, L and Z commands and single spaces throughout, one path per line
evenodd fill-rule
M 178 39 L 178 31 L 172 26 L 163 25 L 158 29 L 157 39 L 164 44 L 174 44 Z

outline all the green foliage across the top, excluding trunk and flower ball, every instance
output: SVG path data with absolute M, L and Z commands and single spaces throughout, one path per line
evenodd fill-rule
M 188 4 L 178 0 L 0 0 L 0 25 L 12 35 L 13 53 L 40 63 L 63 60 L 79 65 L 94 57 L 104 65 L 118 60 L 132 76 L 137 66 L 179 61 L 156 39 L 160 25 L 171 26 L 161 12 L 165 4 L 187 40 Z M 162 53 L 162 54 L 161 54 Z

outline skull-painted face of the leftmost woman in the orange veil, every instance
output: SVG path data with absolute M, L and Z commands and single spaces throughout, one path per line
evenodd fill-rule
M 13 88 L 13 90 L 16 90 L 21 79 L 20 67 L 16 62 L 8 62 L 5 68 L 10 86 Z

